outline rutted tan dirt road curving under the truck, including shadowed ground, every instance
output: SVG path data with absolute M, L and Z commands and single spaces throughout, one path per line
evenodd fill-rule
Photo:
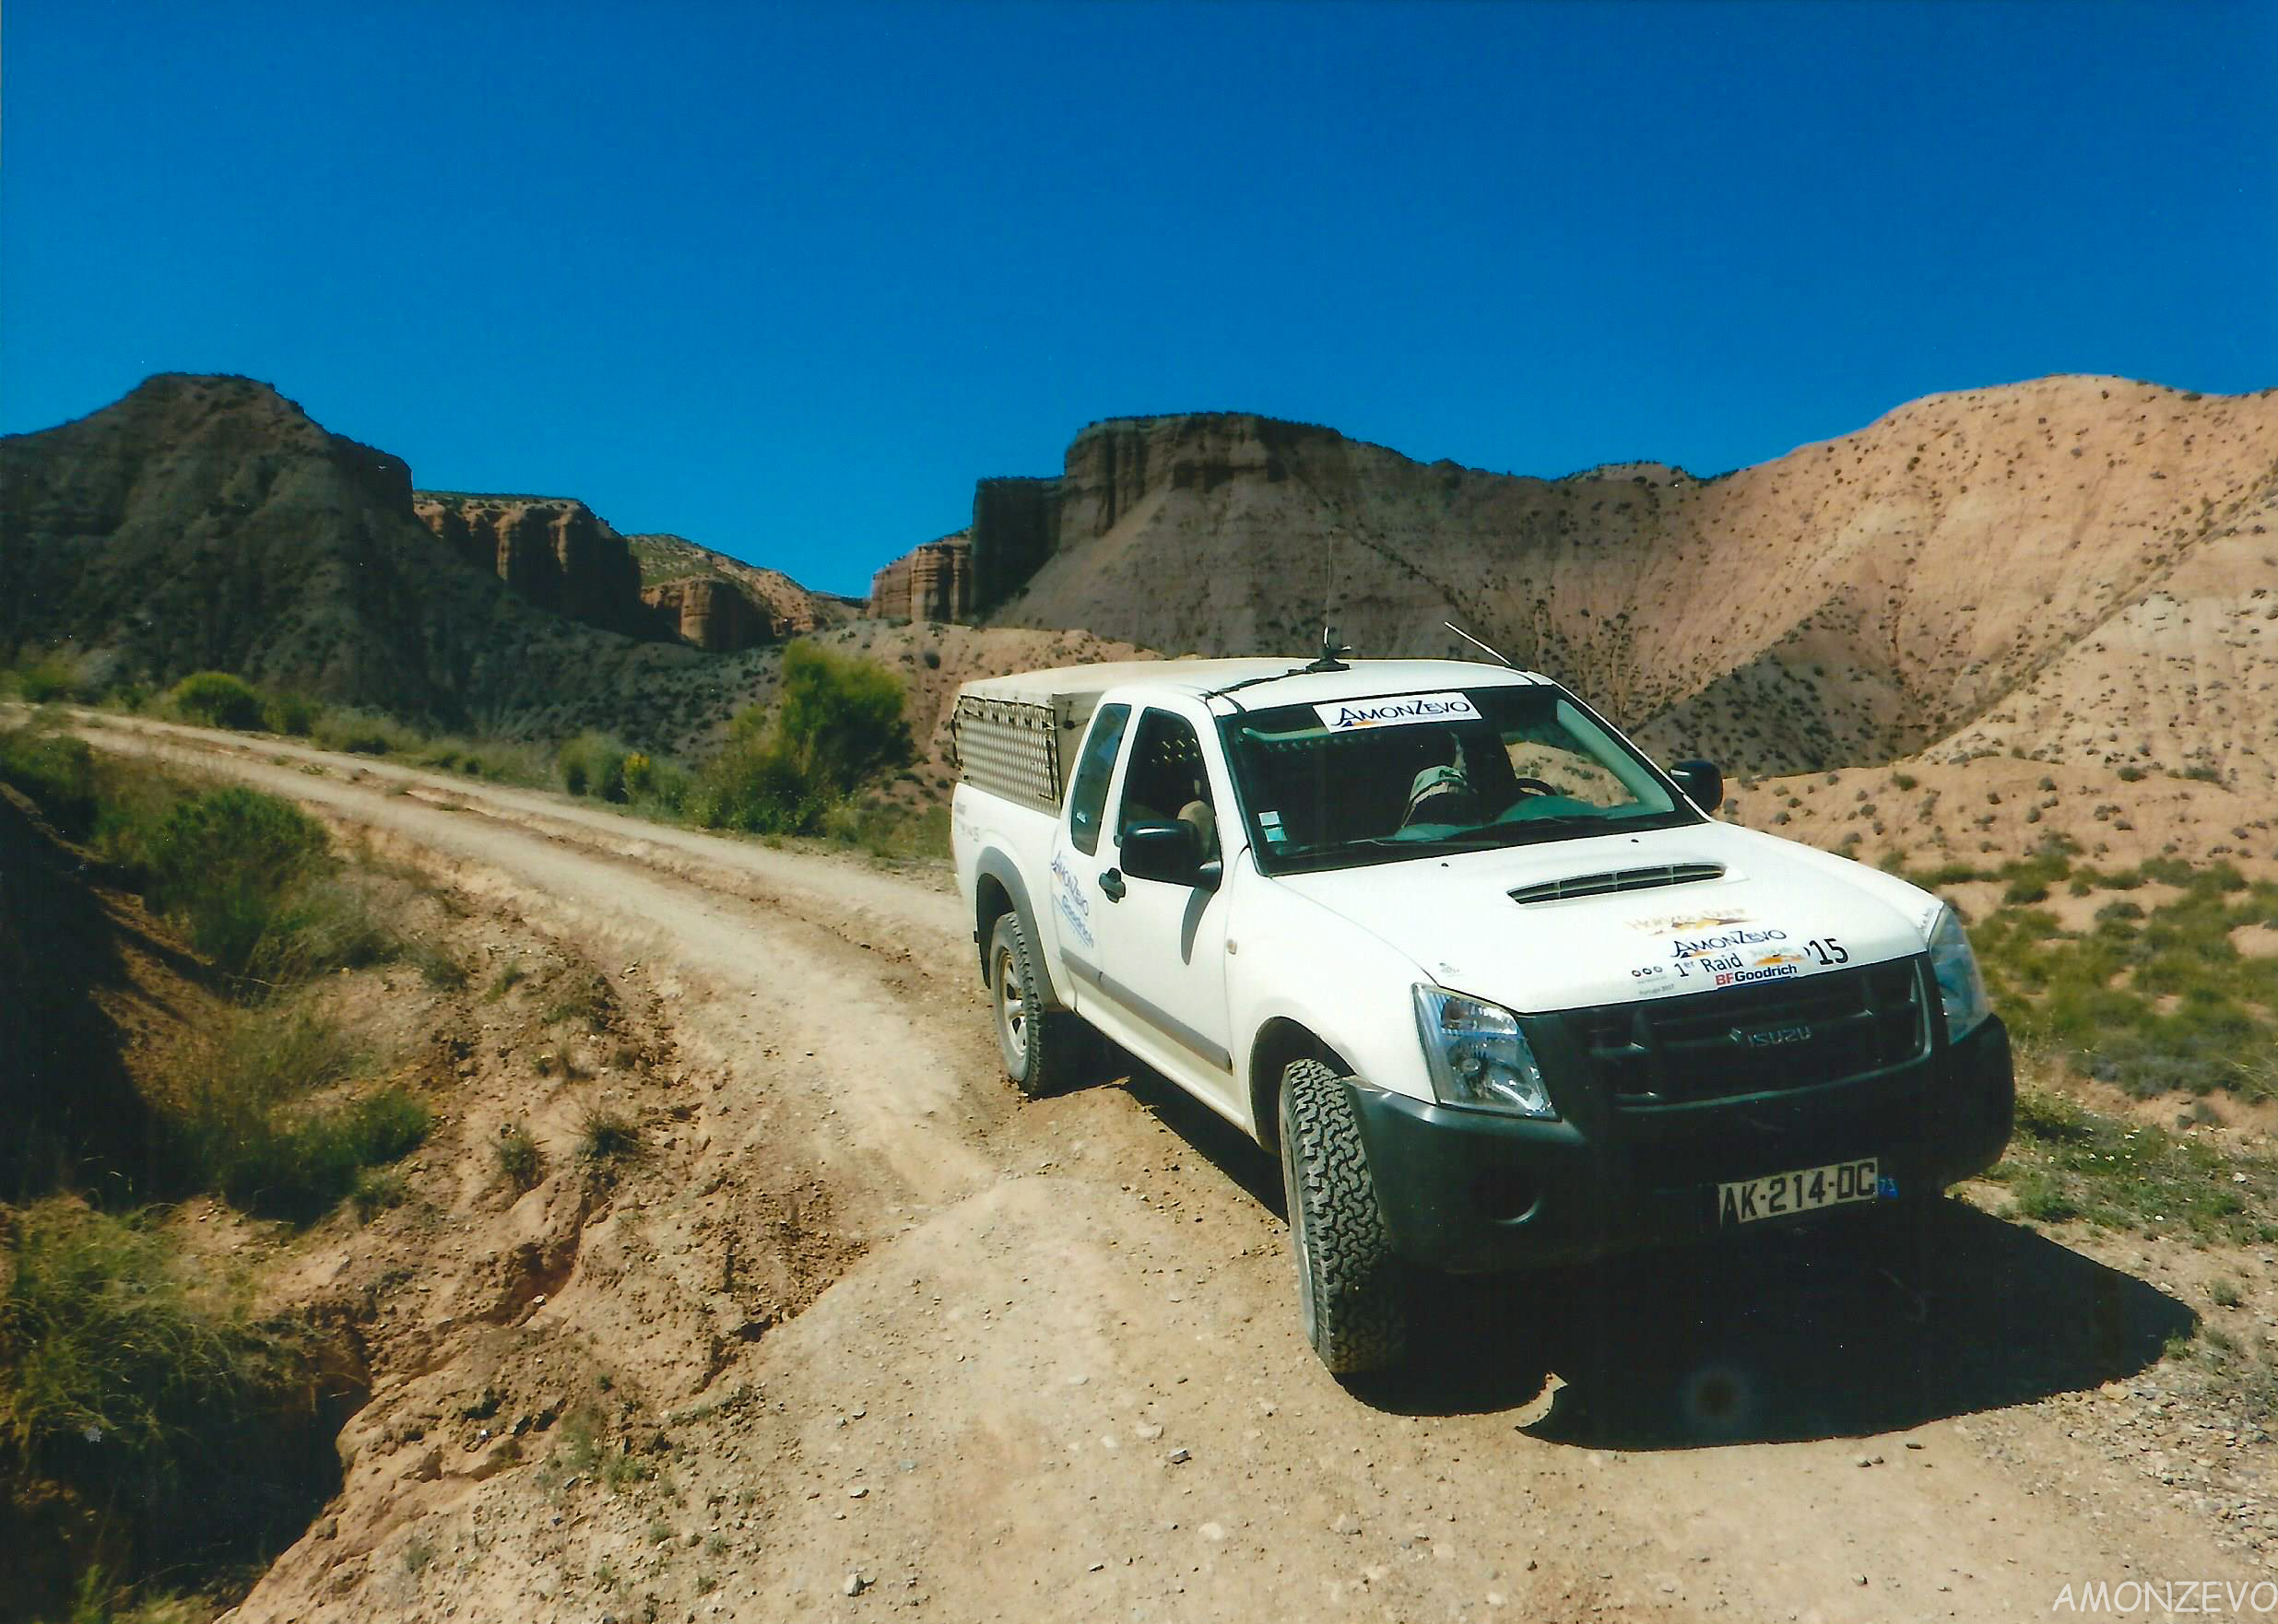
M 1449 1285 L 1417 1367 L 1346 1389 L 1298 1337 L 1255 1148 L 1146 1077 L 1014 1100 L 945 877 L 273 740 L 89 736 L 417 847 L 677 1043 L 670 1132 L 517 1321 L 551 1332 L 547 1380 L 649 1396 L 658 1471 L 465 1469 L 456 1417 L 437 1467 L 440 1435 L 351 1426 L 337 1515 L 248 1622 L 1980 1622 L 2267 1574 L 2093 1437 L 2187 1312 L 1961 1203 L 1888 1273 L 1818 1235 Z M 734 1232 L 754 1171 L 820 1187 L 784 1235 Z M 724 1298 L 779 1244 L 831 1278 L 759 1323 Z M 483 1330 L 380 1369 L 369 1412 L 515 1358 Z

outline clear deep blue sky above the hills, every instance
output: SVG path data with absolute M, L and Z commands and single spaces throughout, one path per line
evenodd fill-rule
M 2271 5 L 0 11 L 0 430 L 241 371 L 861 590 L 1096 417 L 1718 471 L 2278 385 Z

